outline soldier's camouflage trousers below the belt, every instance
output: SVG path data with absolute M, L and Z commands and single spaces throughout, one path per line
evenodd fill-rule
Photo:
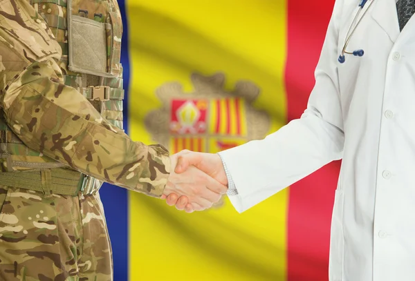
M 44 197 L 0 186 L 0 280 L 109 281 L 111 259 L 98 194 Z

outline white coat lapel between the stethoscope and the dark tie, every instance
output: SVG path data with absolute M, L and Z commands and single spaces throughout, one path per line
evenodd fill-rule
M 396 13 L 395 0 L 373 0 L 371 16 L 378 25 L 385 30 L 392 42 L 399 36 L 398 14 Z

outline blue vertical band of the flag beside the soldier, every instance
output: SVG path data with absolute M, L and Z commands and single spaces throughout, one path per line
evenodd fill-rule
M 124 129 L 128 133 L 128 89 L 129 89 L 129 54 L 127 14 L 125 1 L 119 0 L 122 14 L 124 34 L 122 35 L 121 64 L 124 68 Z M 105 217 L 109 229 L 109 237 L 113 249 L 114 281 L 127 281 L 129 273 L 128 258 L 128 193 L 124 188 L 104 184 L 100 189 L 102 203 L 104 204 Z

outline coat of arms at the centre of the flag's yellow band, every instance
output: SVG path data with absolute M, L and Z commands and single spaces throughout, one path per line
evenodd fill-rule
M 250 81 L 238 81 L 234 90 L 223 89 L 225 75 L 191 75 L 194 91 L 184 93 L 181 84 L 163 84 L 156 90 L 163 107 L 145 117 L 154 142 L 170 153 L 183 149 L 218 153 L 250 140 L 262 139 L 270 129 L 270 117 L 252 103 L 259 88 Z M 223 200 L 216 204 L 220 206 Z

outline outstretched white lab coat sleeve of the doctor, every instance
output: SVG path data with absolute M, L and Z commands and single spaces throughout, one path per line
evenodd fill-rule
M 229 196 L 237 211 L 246 211 L 342 158 L 344 128 L 337 69 L 341 6 L 342 0 L 337 0 L 302 117 L 265 139 L 219 153 L 237 188 L 238 194 Z

